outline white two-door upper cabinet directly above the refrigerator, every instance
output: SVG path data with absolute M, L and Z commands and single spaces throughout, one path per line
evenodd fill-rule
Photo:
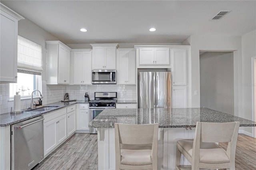
M 138 68 L 170 68 L 169 48 L 145 48 L 136 49 Z

